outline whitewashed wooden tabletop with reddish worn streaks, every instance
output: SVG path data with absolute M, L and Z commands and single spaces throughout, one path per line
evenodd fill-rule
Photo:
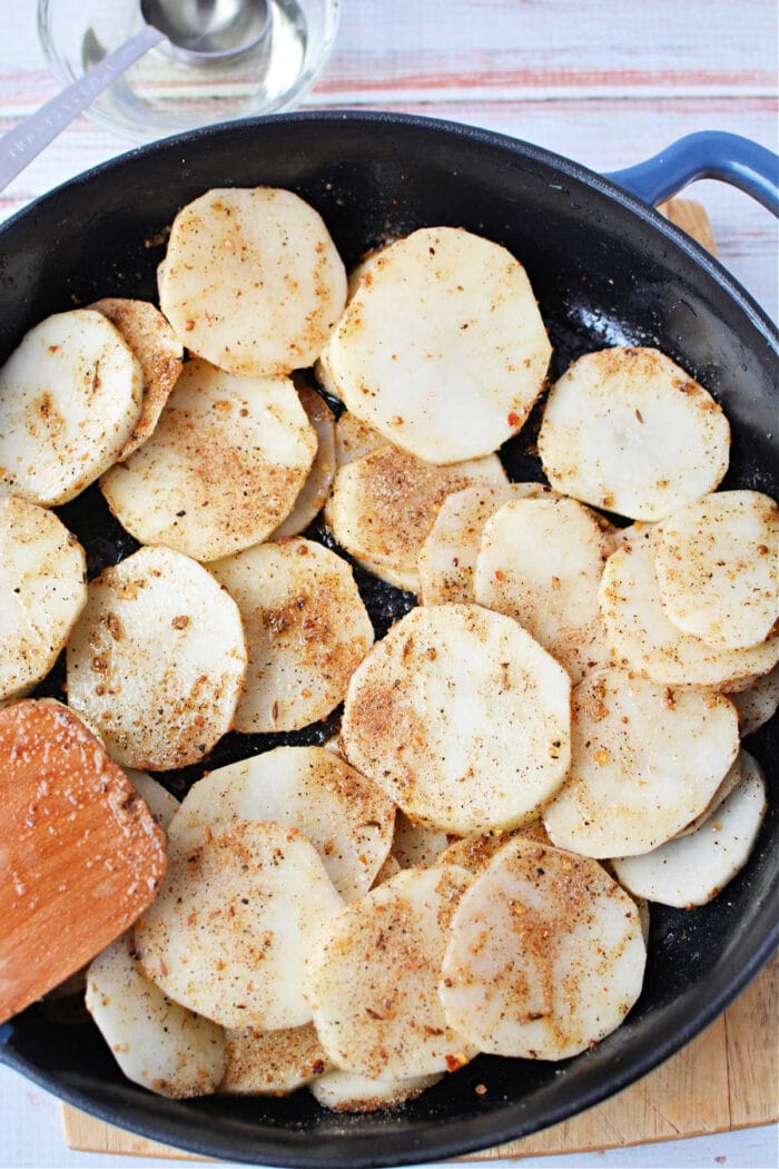
M 404 110 L 471 123 L 596 171 L 648 158 L 695 130 L 729 130 L 777 147 L 774 0 L 342 5 L 335 51 L 306 106 Z M 0 0 L 0 131 L 56 92 L 37 44 L 34 7 L 33 0 Z M 128 145 L 79 118 L 0 193 L 0 220 Z M 775 319 L 775 222 L 746 195 L 719 184 L 698 184 L 694 196 L 709 212 L 722 262 Z M 551 1169 L 545 1158 L 513 1163 Z M 775 1169 L 778 1163 L 775 1128 L 554 1158 L 559 1167 L 611 1169 Z M 57 1102 L 0 1068 L 0 1165 L 84 1164 L 132 1162 L 68 1151 Z

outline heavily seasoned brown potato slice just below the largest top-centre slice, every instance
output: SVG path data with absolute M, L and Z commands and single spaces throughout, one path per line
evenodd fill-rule
M 350 555 L 390 584 L 418 592 L 419 553 L 446 497 L 475 484 L 506 483 L 495 455 L 432 466 L 384 445 L 339 469 L 325 518 Z

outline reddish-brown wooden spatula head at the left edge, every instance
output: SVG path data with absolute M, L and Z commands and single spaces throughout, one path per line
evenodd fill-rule
M 126 929 L 165 865 L 165 833 L 72 711 L 0 710 L 0 1022 Z

